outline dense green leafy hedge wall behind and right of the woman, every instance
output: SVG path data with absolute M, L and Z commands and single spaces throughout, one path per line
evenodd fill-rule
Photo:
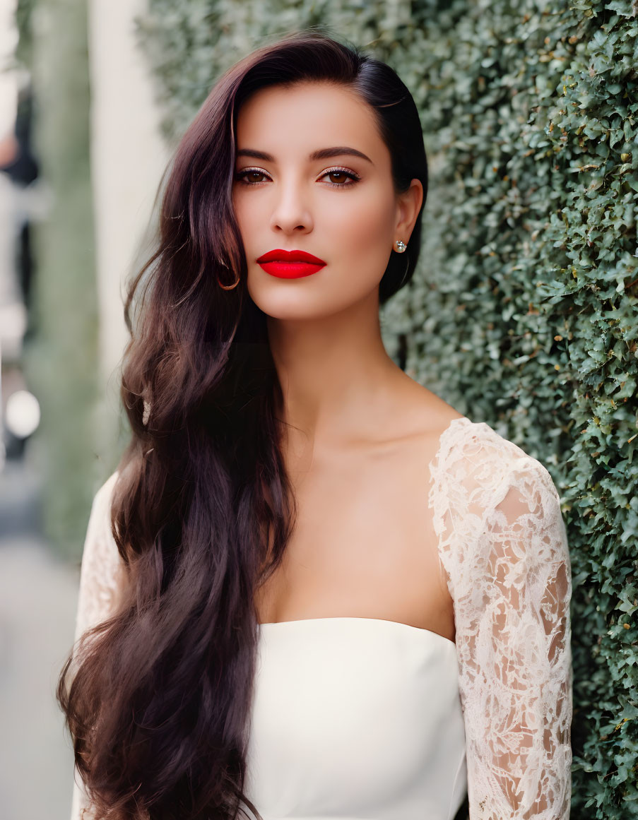
M 174 140 L 228 66 L 326 26 L 422 113 L 426 253 L 382 312 L 407 371 L 544 462 L 572 550 L 572 816 L 638 817 L 638 4 L 151 0 Z

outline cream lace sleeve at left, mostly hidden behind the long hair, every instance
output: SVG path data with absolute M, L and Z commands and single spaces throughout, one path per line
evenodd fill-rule
M 111 532 L 111 499 L 117 475 L 114 472 L 93 498 L 80 567 L 75 642 L 84 631 L 112 614 L 121 588 L 123 562 Z M 89 798 L 77 777 L 73 783 L 71 820 L 93 820 Z

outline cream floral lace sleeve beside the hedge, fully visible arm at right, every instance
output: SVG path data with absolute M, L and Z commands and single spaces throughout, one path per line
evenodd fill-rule
M 435 465 L 440 568 L 453 597 L 469 820 L 567 820 L 572 576 L 545 467 L 483 423 Z

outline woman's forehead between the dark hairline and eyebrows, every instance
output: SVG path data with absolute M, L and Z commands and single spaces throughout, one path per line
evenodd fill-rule
M 239 109 L 238 149 L 255 148 L 279 158 L 332 145 L 358 148 L 373 162 L 387 153 L 372 108 L 343 85 L 271 86 L 254 93 Z

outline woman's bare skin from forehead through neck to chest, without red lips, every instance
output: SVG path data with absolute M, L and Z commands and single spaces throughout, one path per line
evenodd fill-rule
M 422 184 L 395 192 L 374 112 L 340 85 L 262 89 L 240 109 L 236 140 L 233 200 L 248 293 L 267 314 L 299 511 L 285 563 L 258 599 L 260 621 L 381 617 L 453 640 L 426 509 L 427 464 L 461 414 L 397 367 L 379 318 L 379 283 L 394 240 L 409 243 Z M 370 162 L 309 159 L 334 146 Z M 279 279 L 257 264 L 274 248 L 327 264 Z

